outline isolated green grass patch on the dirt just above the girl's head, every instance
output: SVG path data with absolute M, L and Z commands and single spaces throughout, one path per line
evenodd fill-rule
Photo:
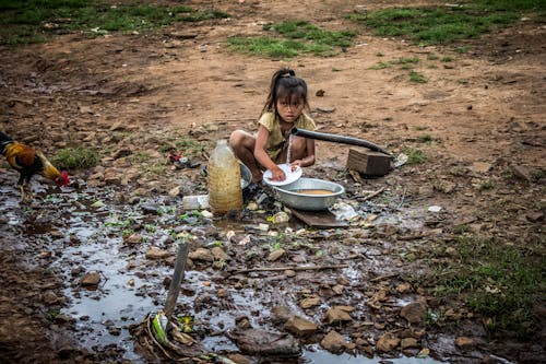
M 229 37 L 230 48 L 254 56 L 270 58 L 294 58 L 301 54 L 330 57 L 353 44 L 356 33 L 351 31 L 330 32 L 306 21 L 287 21 L 280 24 L 264 25 L 264 31 L 280 37 Z

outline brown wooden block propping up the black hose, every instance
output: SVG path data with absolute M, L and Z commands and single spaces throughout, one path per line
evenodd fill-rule
M 357 171 L 367 176 L 384 176 L 391 171 L 392 156 L 373 152 L 365 148 L 348 150 L 347 169 Z

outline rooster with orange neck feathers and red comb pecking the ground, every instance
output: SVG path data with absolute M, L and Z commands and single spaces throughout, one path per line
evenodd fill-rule
M 67 171 L 59 172 L 45 155 L 33 148 L 14 141 L 11 137 L 0 131 L 0 151 L 8 160 L 8 163 L 20 173 L 17 185 L 21 188 L 21 197 L 24 200 L 25 188 L 32 198 L 33 191 L 31 178 L 35 174 L 55 181 L 58 186 L 67 186 L 69 176 Z

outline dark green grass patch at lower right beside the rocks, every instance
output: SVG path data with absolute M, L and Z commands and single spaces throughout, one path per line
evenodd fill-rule
M 428 251 L 436 273 L 427 283 L 442 301 L 462 297 L 483 316 L 490 333 L 511 332 L 530 339 L 539 329 L 533 306 L 544 304 L 546 267 L 542 257 L 525 249 L 529 243 L 500 245 L 465 233 L 456 235 L 455 256 Z

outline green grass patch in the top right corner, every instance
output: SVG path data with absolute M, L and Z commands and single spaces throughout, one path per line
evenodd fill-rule
M 517 22 L 524 13 L 543 19 L 541 0 L 474 0 L 461 7 L 390 8 L 346 17 L 378 36 L 406 36 L 420 45 L 450 44 Z

